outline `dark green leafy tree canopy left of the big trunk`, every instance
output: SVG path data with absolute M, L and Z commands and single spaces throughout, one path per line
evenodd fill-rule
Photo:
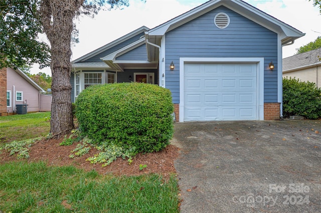
M 0 68 L 49 65 L 50 48 L 38 40 L 43 28 L 38 0 L 0 0 Z

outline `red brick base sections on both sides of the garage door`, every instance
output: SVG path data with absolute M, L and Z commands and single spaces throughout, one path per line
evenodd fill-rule
M 180 104 L 174 104 L 176 122 L 180 121 Z M 280 118 L 279 103 L 264 103 L 264 120 L 276 120 Z

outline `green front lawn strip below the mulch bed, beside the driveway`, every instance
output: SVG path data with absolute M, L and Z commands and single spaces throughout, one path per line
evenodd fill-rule
M 174 176 L 115 177 L 44 162 L 0 170 L 0 212 L 179 212 Z

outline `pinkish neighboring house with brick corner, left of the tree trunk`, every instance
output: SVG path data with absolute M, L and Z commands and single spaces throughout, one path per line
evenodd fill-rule
M 22 70 L 4 68 L 0 80 L 2 85 L 7 85 L 6 95 L 1 93 L 0 96 L 2 116 L 16 113 L 17 105 L 26 105 L 27 112 L 51 111 L 52 97 L 42 94 L 45 91 Z

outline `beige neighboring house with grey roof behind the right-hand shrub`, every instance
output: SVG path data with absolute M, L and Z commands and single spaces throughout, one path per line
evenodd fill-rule
M 321 48 L 283 59 L 283 78 L 309 81 L 321 88 Z

